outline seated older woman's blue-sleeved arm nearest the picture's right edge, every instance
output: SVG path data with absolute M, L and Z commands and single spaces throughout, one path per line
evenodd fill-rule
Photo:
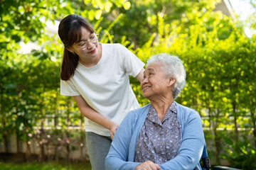
M 205 142 L 201 117 L 196 111 L 192 111 L 185 121 L 181 147 L 178 149 L 178 154 L 169 162 L 161 164 L 161 170 L 192 170 L 195 169 L 201 159 Z

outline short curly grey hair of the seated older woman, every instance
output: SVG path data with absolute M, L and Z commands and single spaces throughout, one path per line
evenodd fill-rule
M 164 71 L 166 77 L 176 79 L 172 91 L 174 99 L 177 98 L 178 94 L 180 94 L 181 90 L 186 86 L 186 70 L 183 66 L 183 62 L 178 57 L 165 53 L 151 56 L 149 60 L 147 60 L 146 67 L 153 62 L 162 62 L 160 69 Z

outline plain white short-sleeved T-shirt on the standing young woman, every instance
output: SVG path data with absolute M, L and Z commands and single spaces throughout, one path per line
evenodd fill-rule
M 102 44 L 102 57 L 93 67 L 78 62 L 75 74 L 68 81 L 60 80 L 60 94 L 81 95 L 98 113 L 120 124 L 139 103 L 129 85 L 129 75 L 137 77 L 144 67 L 124 45 Z M 110 130 L 85 118 L 86 132 L 110 136 Z

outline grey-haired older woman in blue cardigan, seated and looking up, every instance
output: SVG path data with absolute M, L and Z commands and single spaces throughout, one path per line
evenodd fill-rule
M 201 169 L 201 118 L 174 101 L 186 86 L 183 62 L 162 53 L 146 66 L 141 88 L 151 103 L 131 111 L 119 125 L 106 169 Z

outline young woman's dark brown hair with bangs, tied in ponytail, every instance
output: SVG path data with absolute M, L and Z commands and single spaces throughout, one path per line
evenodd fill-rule
M 67 81 L 75 74 L 79 56 L 75 52 L 68 51 L 68 49 L 72 48 L 75 42 L 82 38 L 82 28 L 86 28 L 90 33 L 94 33 L 90 23 L 82 16 L 72 14 L 60 21 L 58 35 L 65 47 L 60 71 L 60 79 L 62 80 Z

